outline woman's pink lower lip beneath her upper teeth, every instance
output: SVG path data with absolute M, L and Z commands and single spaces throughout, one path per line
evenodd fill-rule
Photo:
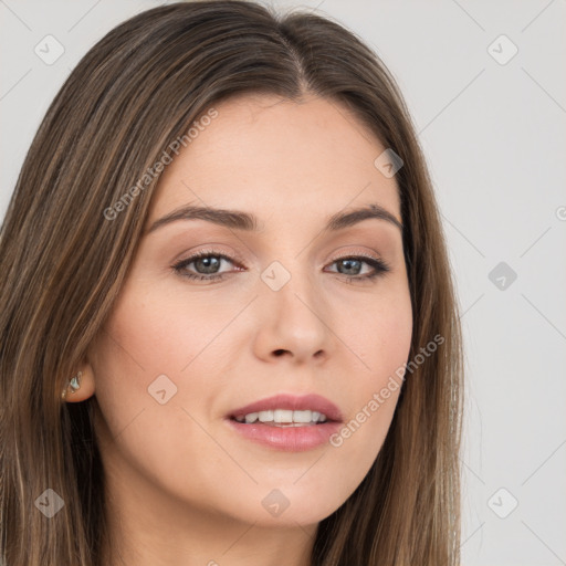
M 304 452 L 328 442 L 329 437 L 337 432 L 340 422 L 321 422 L 304 427 L 274 427 L 259 422 L 247 424 L 233 419 L 228 423 L 243 437 L 260 444 L 284 452 Z

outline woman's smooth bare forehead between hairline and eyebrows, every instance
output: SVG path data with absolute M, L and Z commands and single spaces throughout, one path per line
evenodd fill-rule
M 218 113 L 166 166 L 148 224 L 191 203 L 308 221 L 378 203 L 400 221 L 398 187 L 374 165 L 386 149 L 346 107 L 314 96 L 245 95 Z

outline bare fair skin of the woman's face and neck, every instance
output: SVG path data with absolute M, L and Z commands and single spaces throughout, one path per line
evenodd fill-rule
M 314 96 L 297 104 L 247 95 L 216 108 L 166 167 L 146 229 L 188 203 L 251 212 L 264 226 L 252 233 L 179 220 L 145 234 L 91 345 L 71 401 L 97 400 L 115 548 L 106 564 L 274 566 L 284 556 L 310 565 L 317 524 L 367 474 L 399 389 L 339 448 L 279 451 L 223 417 L 275 394 L 317 392 L 348 422 L 409 355 L 399 228 L 367 219 L 322 231 L 331 214 L 369 203 L 401 221 L 395 177 L 374 166 L 381 143 L 346 108 Z M 222 281 L 171 268 L 211 247 L 234 259 L 219 266 Z M 336 260 L 360 253 L 390 271 L 348 281 L 374 268 L 348 272 Z M 291 274 L 276 292 L 260 276 L 273 261 Z M 206 274 L 198 263 L 185 272 Z M 148 387 L 164 374 L 177 394 L 160 405 Z M 279 516 L 262 505 L 273 489 L 289 501 Z

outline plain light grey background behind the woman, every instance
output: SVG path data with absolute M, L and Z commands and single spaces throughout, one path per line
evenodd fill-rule
M 158 3 L 0 0 L 1 217 L 71 69 Z M 565 0 L 271 3 L 365 39 L 419 132 L 465 338 L 463 564 L 566 564 Z M 34 52 L 48 34 L 64 48 L 53 64 Z

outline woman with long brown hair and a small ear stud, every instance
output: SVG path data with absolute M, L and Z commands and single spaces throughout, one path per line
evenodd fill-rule
M 459 563 L 446 243 L 352 32 L 228 0 L 122 23 L 49 108 L 0 262 L 7 565 Z

